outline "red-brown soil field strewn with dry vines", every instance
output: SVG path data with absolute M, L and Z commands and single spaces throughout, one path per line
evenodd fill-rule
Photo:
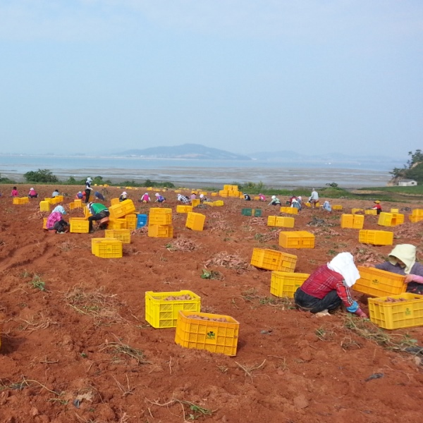
M 18 188 L 26 194 L 30 185 Z M 173 209 L 173 239 L 149 238 L 140 228 L 122 258 L 103 259 L 91 252 L 91 238 L 102 231 L 42 230 L 49 213 L 39 212 L 39 200 L 54 187 L 37 189 L 41 199 L 30 204 L 0 198 L 1 422 L 422 422 L 423 367 L 402 350 L 402 341 L 423 345 L 422 327 L 386 331 L 343 310 L 300 312 L 292 300 L 271 296 L 270 271 L 250 265 L 254 247 L 297 255 L 300 273 L 343 251 L 357 264 L 383 262 L 392 247 L 358 243 L 356 229 L 341 228 L 342 212 L 302 210 L 293 230 L 313 232 L 316 243 L 292 250 L 278 246 L 286 229 L 266 226 L 278 207 L 224 198 L 223 207 L 196 210 L 207 216 L 204 231 L 191 231 L 168 191 L 160 207 Z M 82 216 L 68 207 L 78 188 L 61 189 L 69 193 L 66 219 Z M 122 191 L 108 189 L 105 204 Z M 147 214 L 157 204 L 137 202 L 144 192 L 128 191 L 137 212 Z M 419 208 L 412 201 L 382 207 Z M 344 212 L 372 205 L 331 203 Z M 243 216 L 244 207 L 261 208 L 262 217 Z M 308 225 L 314 217 L 323 219 L 320 226 Z M 422 222 L 405 216 L 403 225 L 382 228 L 376 216 L 365 216 L 364 228 L 393 231 L 395 244 L 412 243 L 422 253 Z M 219 278 L 201 278 L 203 269 Z M 202 311 L 239 321 L 237 355 L 183 348 L 175 329 L 152 328 L 148 290 L 191 290 Z M 367 312 L 366 296 L 354 296 Z M 362 336 L 370 333 L 362 327 L 379 338 Z M 382 376 L 369 379 L 374 374 Z

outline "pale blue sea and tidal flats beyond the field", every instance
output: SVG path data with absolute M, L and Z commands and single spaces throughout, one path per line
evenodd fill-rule
M 269 187 L 324 186 L 360 188 L 384 186 L 399 162 L 339 161 L 228 161 L 196 159 L 144 159 L 49 155 L 0 155 L 3 177 L 23 180 L 28 171 L 48 169 L 61 180 L 69 176 L 102 176 L 105 180 L 160 180 L 178 184 L 259 183 Z

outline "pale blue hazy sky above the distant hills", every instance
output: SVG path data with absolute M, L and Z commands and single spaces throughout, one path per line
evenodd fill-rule
M 0 152 L 423 147 L 421 0 L 0 0 Z

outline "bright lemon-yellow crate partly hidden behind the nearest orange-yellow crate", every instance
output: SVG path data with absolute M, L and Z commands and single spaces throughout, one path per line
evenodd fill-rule
M 168 297 L 190 295 L 190 300 L 166 300 Z M 201 298 L 190 290 L 177 292 L 145 293 L 145 320 L 156 329 L 176 328 L 180 310 L 200 312 Z

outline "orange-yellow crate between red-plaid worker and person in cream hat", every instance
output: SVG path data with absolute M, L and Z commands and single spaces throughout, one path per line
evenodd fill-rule
M 372 297 L 384 297 L 385 295 L 397 295 L 405 293 L 407 285 L 404 283 L 405 276 L 393 274 L 390 271 L 375 269 L 374 267 L 358 266 L 360 279 L 353 285 L 353 290 Z

